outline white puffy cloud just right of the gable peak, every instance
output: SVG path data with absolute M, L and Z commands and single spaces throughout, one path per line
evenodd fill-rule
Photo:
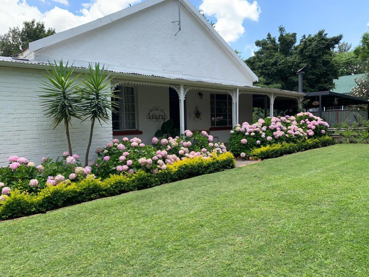
M 215 30 L 228 43 L 238 40 L 245 33 L 242 23 L 245 19 L 258 21 L 261 8 L 258 2 L 246 0 L 203 0 L 200 9 L 207 16 L 217 18 Z

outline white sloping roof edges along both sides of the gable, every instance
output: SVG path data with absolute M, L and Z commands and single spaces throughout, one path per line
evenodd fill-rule
M 37 51 L 41 48 L 47 47 L 57 42 L 66 40 L 68 38 L 85 33 L 87 31 L 91 31 L 93 29 L 109 24 L 115 20 L 119 20 L 131 14 L 137 13 L 138 11 L 144 10 L 145 8 L 154 6 L 163 1 L 167 0 L 146 0 L 132 7 L 125 8 L 123 10 L 101 17 L 89 23 L 51 35 L 49 37 L 42 38 L 41 40 L 30 42 L 29 51 L 30 52 Z M 234 50 L 230 47 L 230 45 L 228 45 L 227 42 L 225 42 L 225 40 L 218 34 L 217 31 L 215 31 L 215 29 L 199 13 L 199 11 L 196 10 L 196 8 L 190 3 L 190 1 L 188 0 L 179 0 L 179 1 L 189 11 L 189 13 L 192 14 L 192 16 L 196 18 L 197 21 L 199 21 L 204 28 L 206 28 L 206 30 L 215 38 L 215 40 L 218 41 L 218 43 L 221 44 L 225 48 L 225 50 L 231 54 L 231 56 L 241 65 L 241 68 L 243 68 L 251 76 L 253 82 L 257 82 L 258 76 L 256 76 L 255 73 L 252 72 L 252 70 L 245 64 L 245 62 L 234 52 Z

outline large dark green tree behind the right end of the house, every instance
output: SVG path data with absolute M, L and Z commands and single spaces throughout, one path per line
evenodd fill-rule
M 298 90 L 296 71 L 306 63 L 304 92 L 330 90 L 338 78 L 333 50 L 341 38 L 342 35 L 328 37 L 321 30 L 315 35 L 303 35 L 296 45 L 296 33 L 286 33 L 280 26 L 278 40 L 270 33 L 257 40 L 258 51 L 245 62 L 259 76 L 259 86 Z

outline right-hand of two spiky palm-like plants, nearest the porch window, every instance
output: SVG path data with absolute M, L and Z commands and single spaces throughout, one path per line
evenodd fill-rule
M 85 166 L 87 166 L 95 121 L 98 120 L 100 125 L 101 121 L 108 122 L 111 110 L 113 107 L 117 107 L 118 104 L 111 100 L 114 94 L 111 91 L 110 75 L 107 75 L 107 69 L 104 69 L 104 66 L 100 70 L 99 63 L 95 63 L 95 68 L 89 64 L 88 71 L 84 71 L 82 75 L 82 83 L 84 88 L 81 107 L 87 114 L 86 119 L 91 120 L 90 138 L 85 158 Z

